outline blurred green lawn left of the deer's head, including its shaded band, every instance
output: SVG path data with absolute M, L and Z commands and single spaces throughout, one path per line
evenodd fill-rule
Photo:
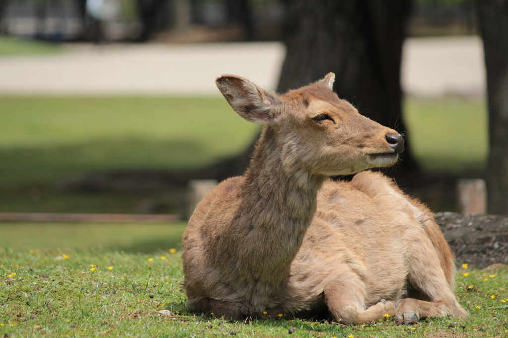
M 242 150 L 259 130 L 220 98 L 4 96 L 0 105 L 4 186 L 199 166 Z

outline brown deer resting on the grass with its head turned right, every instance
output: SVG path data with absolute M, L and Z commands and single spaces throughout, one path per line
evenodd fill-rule
M 362 172 L 394 164 L 403 138 L 339 99 L 334 79 L 280 96 L 240 77 L 216 80 L 241 117 L 265 125 L 245 174 L 220 183 L 188 222 L 188 307 L 232 319 L 327 310 L 344 324 L 467 316 L 431 212 Z

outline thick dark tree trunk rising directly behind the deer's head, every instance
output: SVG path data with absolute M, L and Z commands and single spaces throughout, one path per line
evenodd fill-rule
M 283 29 L 287 56 L 277 90 L 334 72 L 339 97 L 405 134 L 400 63 L 410 9 L 410 0 L 288 0 Z M 409 149 L 399 166 L 405 172 L 418 170 Z

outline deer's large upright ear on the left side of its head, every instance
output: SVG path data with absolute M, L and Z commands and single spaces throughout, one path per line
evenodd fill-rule
M 273 120 L 272 108 L 278 102 L 275 95 L 234 75 L 223 75 L 215 83 L 235 112 L 245 120 L 253 123 Z

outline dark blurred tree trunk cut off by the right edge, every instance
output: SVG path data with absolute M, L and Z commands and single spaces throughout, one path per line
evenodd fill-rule
M 487 208 L 508 215 L 508 1 L 475 0 L 485 51 L 490 152 Z

